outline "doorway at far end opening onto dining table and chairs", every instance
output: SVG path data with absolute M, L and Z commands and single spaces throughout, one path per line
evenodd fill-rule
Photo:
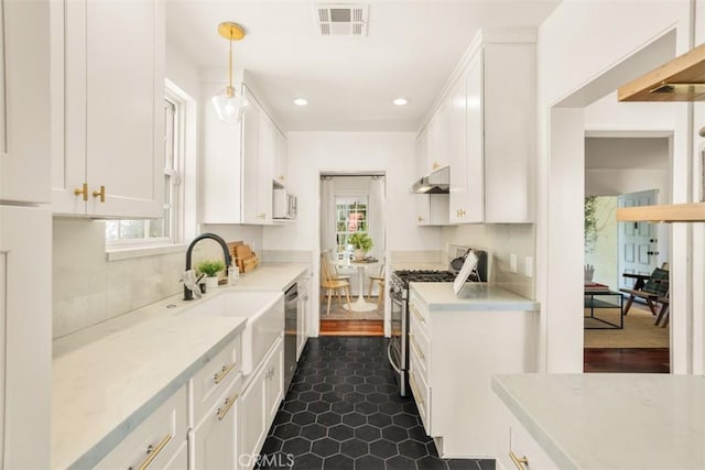
M 383 336 L 383 173 L 321 175 L 322 336 Z

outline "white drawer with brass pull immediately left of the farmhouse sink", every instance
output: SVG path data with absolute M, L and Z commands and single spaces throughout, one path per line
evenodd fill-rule
M 210 409 L 223 392 L 240 375 L 241 338 L 238 336 L 210 359 L 193 378 L 195 424 Z

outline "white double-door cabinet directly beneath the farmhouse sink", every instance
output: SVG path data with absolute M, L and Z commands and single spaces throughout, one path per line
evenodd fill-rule
M 259 451 L 283 398 L 283 338 L 278 339 L 274 345 L 240 398 L 238 462 L 242 469 L 251 469 L 257 463 Z

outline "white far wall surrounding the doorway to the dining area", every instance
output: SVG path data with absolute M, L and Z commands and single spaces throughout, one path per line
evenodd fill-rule
M 413 132 L 290 132 L 288 189 L 299 197 L 296 222 L 265 227 L 264 250 L 311 251 L 314 278 L 318 278 L 322 173 L 384 172 L 387 185 L 386 258 L 391 251 L 438 250 L 441 229 L 417 227 L 413 195 Z M 314 283 L 314 298 L 318 283 Z M 314 311 L 318 311 L 314 309 Z M 318 324 L 312 321 L 311 335 Z

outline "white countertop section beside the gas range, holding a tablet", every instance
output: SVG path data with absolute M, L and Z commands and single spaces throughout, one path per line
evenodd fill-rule
M 487 283 L 467 283 L 458 296 L 453 283 L 412 282 L 409 287 L 432 310 L 539 310 L 538 302 Z

